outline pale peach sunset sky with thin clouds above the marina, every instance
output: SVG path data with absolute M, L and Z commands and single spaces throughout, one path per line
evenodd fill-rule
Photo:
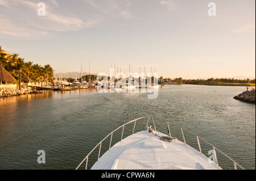
M 55 73 L 255 78 L 255 1 L 0 0 L 0 46 Z

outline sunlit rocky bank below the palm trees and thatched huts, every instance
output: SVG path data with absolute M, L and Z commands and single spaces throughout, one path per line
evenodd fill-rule
M 41 94 L 42 92 L 30 89 L 7 89 L 7 88 L 0 88 L 0 98 L 5 98 L 9 96 L 19 96 L 19 95 L 26 95 L 26 94 Z

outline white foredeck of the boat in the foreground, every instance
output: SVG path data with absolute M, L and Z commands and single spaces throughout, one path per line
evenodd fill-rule
M 160 132 L 156 133 L 167 136 Z M 112 146 L 91 169 L 220 170 L 221 167 L 179 140 L 166 142 L 148 131 L 141 131 Z

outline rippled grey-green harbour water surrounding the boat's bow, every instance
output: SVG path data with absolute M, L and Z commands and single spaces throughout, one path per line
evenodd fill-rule
M 157 99 L 147 99 L 147 92 L 97 90 L 44 91 L 2 98 L 0 169 L 75 169 L 114 129 L 149 115 L 196 133 L 245 169 L 255 169 L 255 104 L 233 99 L 245 90 L 231 86 L 166 85 L 159 89 Z M 159 125 L 156 123 L 156 127 Z M 197 145 L 195 137 L 184 134 L 186 142 Z M 183 141 L 180 133 L 174 136 Z M 210 148 L 202 149 L 207 153 Z M 37 162 L 38 150 L 45 151 L 46 164 Z M 217 156 L 222 162 L 221 155 Z M 223 162 L 225 169 L 233 169 L 232 162 Z

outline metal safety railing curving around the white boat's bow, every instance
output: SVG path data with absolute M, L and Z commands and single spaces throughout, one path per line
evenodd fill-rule
M 155 116 L 154 116 L 154 117 L 155 117 Z M 136 126 L 137 121 L 143 120 L 143 119 L 146 119 L 146 118 L 147 118 L 147 124 L 146 124 L 146 127 L 145 127 L 145 131 L 146 131 L 146 129 L 147 129 L 147 127 L 148 127 L 148 123 L 149 123 L 149 121 L 150 121 L 150 118 L 152 118 L 152 123 L 153 123 L 153 125 L 154 125 L 154 130 L 156 131 L 156 126 L 155 126 L 154 117 L 153 117 L 153 116 L 144 116 L 144 117 L 140 117 L 140 118 L 138 118 L 138 119 L 129 121 L 128 123 L 123 124 L 123 125 L 121 125 L 121 127 L 118 127 L 117 129 L 115 129 L 113 132 L 111 132 L 110 134 L 108 134 L 108 136 L 106 136 L 103 140 L 101 140 L 101 141 L 92 149 L 92 151 L 90 151 L 90 153 L 89 153 L 88 155 L 86 155 L 86 157 L 81 161 L 81 163 L 79 164 L 79 166 L 76 167 L 76 170 L 79 169 L 80 166 L 82 165 L 82 163 L 84 163 L 84 162 L 85 162 L 85 170 L 87 169 L 87 167 L 88 167 L 89 155 L 92 154 L 93 151 L 96 150 L 96 148 L 98 148 L 98 147 L 99 147 L 99 151 L 98 151 L 97 161 L 100 159 L 102 142 L 105 141 L 106 138 L 108 138 L 108 137 L 110 137 L 110 142 L 109 142 L 109 146 L 108 146 L 108 149 L 110 150 L 111 145 L 112 145 L 112 140 L 113 140 L 113 133 L 116 132 L 116 131 L 118 131 L 118 130 L 121 129 L 121 128 L 122 128 L 122 135 L 121 135 L 121 140 L 120 140 L 120 141 L 122 141 L 122 139 L 123 139 L 123 132 L 124 132 L 124 129 L 125 129 L 125 125 L 134 123 L 133 133 L 132 133 L 132 134 L 134 134 L 135 126 Z M 184 129 L 184 128 L 180 127 L 179 125 L 176 125 L 176 124 L 174 124 L 174 123 L 171 123 L 170 121 L 161 119 L 161 118 L 159 118 L 159 117 L 155 117 L 155 118 L 158 119 L 158 120 L 161 120 L 161 121 L 165 121 L 165 122 L 167 123 L 167 129 L 168 129 L 168 133 L 169 133 L 170 137 L 171 137 L 170 125 L 173 125 L 173 126 L 179 128 L 179 129 L 180 129 L 180 132 L 181 132 L 181 135 L 182 135 L 182 137 L 183 137 L 183 142 L 184 142 L 184 144 L 186 144 L 186 145 L 188 145 L 188 144 L 187 144 L 186 141 L 185 141 L 184 131 L 186 131 L 186 132 L 192 134 L 193 136 L 195 136 L 195 137 L 196 137 L 196 140 L 197 140 L 197 145 L 199 146 L 199 151 L 200 151 L 201 154 L 203 154 L 203 153 L 202 153 L 202 149 L 201 149 L 200 140 L 201 140 L 201 141 L 204 141 L 206 144 L 208 144 L 209 146 L 211 146 L 212 149 L 213 149 L 213 154 L 214 154 L 214 162 L 216 163 L 217 166 L 219 166 L 219 163 L 218 163 L 218 159 L 217 159 L 216 150 L 219 151 L 222 155 L 224 155 L 225 158 L 228 158 L 230 161 L 233 162 L 233 164 L 234 164 L 234 169 L 235 169 L 235 170 L 237 170 L 237 167 L 240 167 L 240 169 L 245 170 L 240 164 L 238 164 L 236 161 L 234 161 L 232 158 L 230 158 L 228 155 L 226 155 L 226 154 L 225 154 L 224 152 L 222 152 L 220 149 L 216 148 L 216 146 L 213 146 L 213 145 L 210 144 L 208 141 L 206 141 L 206 140 L 204 140 L 203 138 L 197 136 L 195 133 L 189 132 L 187 129 Z M 179 139 L 179 138 L 178 138 L 178 139 Z M 189 146 L 191 146 L 191 145 L 189 145 Z M 193 147 L 192 147 L 192 148 L 193 148 Z M 196 149 L 196 148 L 194 148 L 194 149 Z M 196 149 L 196 150 L 197 150 L 197 149 Z M 203 154 L 203 155 L 204 155 L 205 157 L 207 157 L 205 154 Z M 207 157 L 207 158 L 208 158 L 208 157 Z M 208 158 L 208 159 L 210 159 L 210 158 Z M 220 166 L 219 166 L 219 167 L 220 167 Z

